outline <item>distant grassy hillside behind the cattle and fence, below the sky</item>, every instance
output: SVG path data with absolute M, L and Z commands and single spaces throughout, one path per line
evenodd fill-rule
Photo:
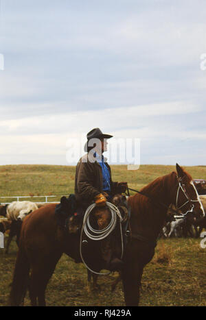
M 174 166 L 142 165 L 139 170 L 127 170 L 126 165 L 111 166 L 113 181 L 127 181 L 138 190 L 161 175 L 175 171 Z M 206 166 L 184 167 L 193 178 L 206 179 Z M 0 202 L 2 196 L 69 195 L 73 193 L 75 167 L 19 164 L 0 166 Z M 59 200 L 51 198 L 52 201 Z M 8 199 L 12 201 L 12 199 Z M 35 198 L 35 201 L 41 201 Z

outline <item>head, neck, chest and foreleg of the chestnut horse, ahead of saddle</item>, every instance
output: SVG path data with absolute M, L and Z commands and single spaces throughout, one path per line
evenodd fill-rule
M 177 174 L 176 174 L 177 172 Z M 126 306 L 138 306 L 139 288 L 144 267 L 155 254 L 156 241 L 170 204 L 183 214 L 204 217 L 192 177 L 176 164 L 176 172 L 157 178 L 128 198 L 131 208 L 131 240 L 124 255 L 122 275 Z

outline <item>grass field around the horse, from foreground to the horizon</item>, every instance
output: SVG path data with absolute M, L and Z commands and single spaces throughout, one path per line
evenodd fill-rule
M 144 165 L 138 171 L 128 171 L 126 166 L 113 166 L 112 172 L 114 181 L 128 181 L 131 188 L 139 189 L 174 169 L 172 166 Z M 185 169 L 194 178 L 206 179 L 206 167 Z M 73 193 L 74 175 L 75 167 L 1 166 L 0 195 L 69 195 Z M 206 306 L 206 249 L 201 248 L 200 242 L 201 239 L 195 238 L 158 241 L 155 257 L 144 269 L 140 306 Z M 8 301 L 16 251 L 14 241 L 10 254 L 5 255 L 4 249 L 0 249 L 0 306 Z M 120 282 L 111 293 L 111 284 L 116 277 L 117 273 L 101 276 L 98 290 L 93 291 L 83 264 L 76 264 L 63 255 L 47 286 L 47 305 L 124 306 Z M 30 305 L 27 297 L 25 305 Z

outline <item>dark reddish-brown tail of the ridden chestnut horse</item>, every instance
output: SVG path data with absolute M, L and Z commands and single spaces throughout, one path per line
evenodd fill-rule
M 28 286 L 29 273 L 30 264 L 27 254 L 23 247 L 20 247 L 14 268 L 12 289 L 10 292 L 10 306 L 19 306 L 20 304 L 23 304 L 23 299 Z

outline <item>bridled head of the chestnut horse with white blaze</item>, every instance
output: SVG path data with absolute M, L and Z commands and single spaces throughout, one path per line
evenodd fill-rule
M 183 214 L 193 215 L 197 219 L 204 217 L 205 211 L 191 175 L 185 172 L 179 164 L 176 164 L 176 173 L 178 182 L 174 199 L 176 209 L 181 210 Z

